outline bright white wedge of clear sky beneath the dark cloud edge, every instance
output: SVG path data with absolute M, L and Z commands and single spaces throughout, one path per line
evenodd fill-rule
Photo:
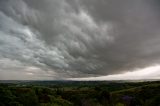
M 92 81 L 92 80 L 142 80 L 160 79 L 160 65 L 153 65 L 143 69 L 135 69 L 123 74 L 107 75 L 88 78 L 68 78 L 68 80 Z

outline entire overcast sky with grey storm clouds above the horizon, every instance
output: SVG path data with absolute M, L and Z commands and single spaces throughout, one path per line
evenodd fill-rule
M 159 0 L 0 0 L 0 80 L 160 79 Z

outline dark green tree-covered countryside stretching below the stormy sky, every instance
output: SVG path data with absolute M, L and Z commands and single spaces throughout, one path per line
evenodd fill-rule
M 160 82 L 1 83 L 0 106 L 160 106 Z

